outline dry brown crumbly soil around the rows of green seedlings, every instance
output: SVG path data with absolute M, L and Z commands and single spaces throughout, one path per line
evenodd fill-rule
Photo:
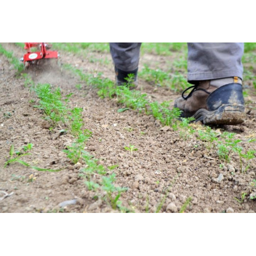
M 17 58 L 24 54 L 14 44 L 2 45 Z M 25 72 L 35 83 L 60 87 L 63 95 L 74 93 L 69 104 L 72 108 L 83 108 L 84 129 L 92 131 L 85 150 L 104 167 L 118 165 L 114 169 L 115 184 L 129 188 L 120 198 L 123 206 L 132 212 L 156 212 L 157 207 L 159 212 L 179 212 L 191 198 L 185 212 L 256 212 L 256 202 L 250 199 L 250 194 L 255 193 L 250 185 L 256 178 L 255 159 L 245 173 L 239 170 L 238 157 L 221 169 L 216 152 L 204 152 L 195 136 L 184 140 L 178 131 L 163 127 L 152 116 L 135 110 L 118 113 L 123 106 L 115 99 L 101 99 L 96 89 L 62 69 L 63 63 L 69 63 L 87 73 L 102 72 L 105 78 L 114 80 L 109 53 L 77 56 L 59 51 L 59 54 L 61 64 L 47 62 Z M 92 57 L 104 61 L 92 62 Z M 143 54 L 139 68 L 147 64 L 167 70 L 175 58 Z M 7 58 L 0 56 L 0 198 L 8 195 L 0 199 L 0 212 L 119 212 L 109 206 L 104 195 L 95 197 L 93 191 L 87 190 L 79 176 L 82 164 L 72 164 L 63 152 L 74 142 L 74 137 L 62 134 L 61 127 L 49 130 L 41 110 L 34 107 L 35 93 L 25 86 L 24 78 L 15 74 Z M 245 86 L 250 90 L 245 97 L 245 123 L 213 127 L 220 133 L 235 133 L 242 140 L 255 138 L 256 130 L 255 89 L 251 84 Z M 137 89 L 159 102 L 180 96 L 143 80 L 139 80 Z M 16 150 L 28 143 L 33 144 L 33 150 L 31 155 L 24 156 L 24 161 L 40 168 L 62 170 L 39 172 L 19 163 L 4 168 L 11 145 Z M 138 150 L 126 151 L 124 147 L 129 144 Z M 243 146 L 255 150 L 255 143 Z M 246 195 L 241 199 L 243 193 Z M 71 204 L 63 203 L 70 200 Z

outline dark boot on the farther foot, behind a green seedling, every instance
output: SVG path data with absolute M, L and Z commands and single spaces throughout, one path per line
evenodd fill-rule
M 138 86 L 138 68 L 133 71 L 123 71 L 114 68 L 116 72 L 116 84 L 117 86 L 127 86 L 130 89 L 135 89 Z

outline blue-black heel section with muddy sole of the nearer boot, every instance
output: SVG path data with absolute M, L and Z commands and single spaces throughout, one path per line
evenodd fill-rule
M 244 104 L 241 84 L 226 84 L 210 93 L 207 109 L 199 109 L 193 117 L 204 125 L 237 125 L 245 120 Z

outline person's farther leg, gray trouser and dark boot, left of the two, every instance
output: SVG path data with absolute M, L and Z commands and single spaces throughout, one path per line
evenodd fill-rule
M 116 83 L 122 85 L 127 83 L 129 74 L 134 75 L 134 83 L 136 84 L 140 42 L 110 42 L 110 53 L 114 62 L 116 72 Z

